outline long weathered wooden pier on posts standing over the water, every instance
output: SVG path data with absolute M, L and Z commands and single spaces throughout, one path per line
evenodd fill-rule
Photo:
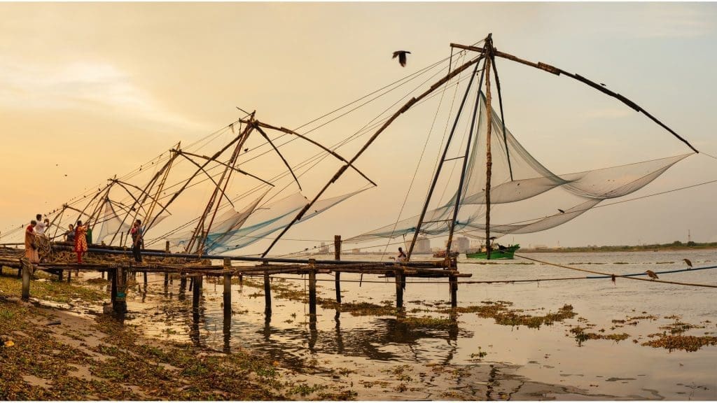
M 341 238 L 337 236 L 336 243 L 340 245 Z M 22 276 L 22 298 L 28 300 L 31 293 L 31 276 L 34 270 L 57 275 L 57 280 L 64 281 L 67 273 L 67 282 L 71 281 L 72 271 L 101 272 L 111 283 L 110 300 L 115 313 L 123 314 L 127 311 L 127 288 L 129 273 L 142 273 L 143 282 L 147 283 L 147 273 L 164 273 L 164 285 L 171 281 L 172 274 L 179 274 L 180 290 L 186 290 L 187 279 L 190 280 L 189 289 L 192 292 L 192 306 L 199 308 L 201 290 L 204 277 L 221 277 L 224 280 L 224 310 L 231 315 L 232 277 L 240 280 L 244 276 L 257 276 L 264 279 L 265 316 L 267 320 L 272 315 L 271 276 L 272 275 L 306 275 L 308 276 L 308 303 L 310 321 L 316 316 L 316 283 L 318 275 L 333 275 L 336 288 L 336 303 L 341 304 L 341 273 L 356 273 L 361 275 L 377 275 L 394 278 L 396 286 L 396 308 L 401 312 L 404 308 L 404 290 L 407 278 L 447 278 L 450 290 L 451 307 L 457 307 L 457 278 L 470 277 L 470 274 L 458 272 L 455 260 L 432 260 L 423 262 L 371 262 L 356 260 L 341 260 L 340 248 L 334 260 L 315 259 L 288 259 L 271 257 L 227 257 L 214 255 L 188 255 L 169 252 L 143 252 L 142 263 L 134 262 L 131 252 L 112 249 L 90 248 L 88 252 L 92 262 L 75 263 L 62 261 L 58 257 L 64 252 L 69 254 L 65 245 L 53 245 L 53 253 L 39 264 L 31 264 L 25 257 L 24 251 L 19 249 L 1 248 L 0 266 L 16 268 L 18 276 Z M 55 260 L 53 260 L 55 258 Z M 99 261 L 98 261 L 99 260 Z M 212 260 L 221 261 L 221 265 L 212 265 Z M 232 265 L 232 262 L 244 262 L 244 265 Z M 254 263 L 251 265 L 250 263 Z

